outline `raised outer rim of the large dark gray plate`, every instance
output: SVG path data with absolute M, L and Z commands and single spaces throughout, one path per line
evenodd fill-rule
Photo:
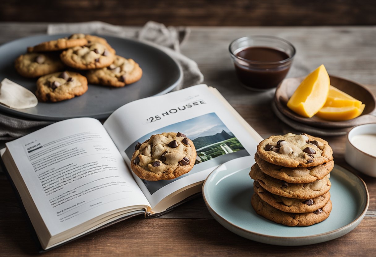
M 12 41 L 8 41 L 8 42 L 5 42 L 4 44 L 1 44 L 0 50 L 1 50 L 2 47 L 5 47 L 6 45 L 14 44 L 15 42 L 23 41 L 25 39 L 27 40 L 27 39 L 41 37 L 41 36 L 56 36 L 57 38 L 59 38 L 59 37 L 65 37 L 67 35 L 71 35 L 71 33 L 60 33 L 60 34 L 51 34 L 51 35 L 49 35 L 49 34 L 36 34 L 36 35 L 32 35 L 32 36 L 25 36 L 25 37 L 17 38 L 17 39 L 14 39 Z M 149 97 L 166 94 L 182 83 L 182 81 L 183 81 L 183 69 L 182 69 L 181 65 L 173 57 L 171 57 L 170 55 L 168 55 L 167 53 L 165 53 L 161 49 L 154 47 L 152 44 L 148 44 L 147 42 L 137 40 L 137 39 L 133 39 L 133 38 L 120 38 L 120 37 L 117 37 L 117 36 L 102 35 L 102 34 L 97 34 L 97 33 L 93 33 L 92 35 L 103 36 L 105 38 L 121 39 L 121 40 L 125 40 L 125 41 L 132 41 L 132 42 L 136 42 L 138 44 L 146 45 L 147 47 L 152 47 L 155 50 L 157 50 L 157 51 L 165 54 L 166 56 L 168 56 L 168 58 L 170 58 L 175 63 L 176 67 L 179 70 L 179 78 L 168 88 L 162 90 L 158 94 L 150 95 Z M 135 100 L 138 100 L 138 99 L 135 99 Z M 121 107 L 121 106 L 119 106 L 119 107 Z M 96 113 L 96 114 L 89 115 L 89 116 L 91 118 L 96 118 L 96 119 L 106 119 L 115 110 L 112 110 L 112 111 L 109 111 L 109 112 Z M 9 108 L 9 107 L 2 105 L 2 104 L 0 104 L 0 111 L 4 112 L 4 113 L 11 114 L 11 115 L 15 115 L 19 118 L 28 118 L 28 119 L 35 119 L 35 120 L 42 120 L 42 121 L 62 121 L 62 120 L 65 120 L 65 119 L 80 118 L 80 117 L 86 117 L 87 116 L 87 115 L 84 115 L 84 116 L 83 115 L 64 116 L 64 117 L 41 116 L 41 115 L 36 115 L 36 114 L 20 112 L 17 109 L 12 109 L 12 108 Z

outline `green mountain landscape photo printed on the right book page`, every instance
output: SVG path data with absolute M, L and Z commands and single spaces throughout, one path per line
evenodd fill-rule
M 184 133 L 192 140 L 197 152 L 196 162 L 190 172 L 172 180 L 147 181 L 142 179 L 150 194 L 188 175 L 217 167 L 232 159 L 250 155 L 214 112 L 177 122 L 148 133 L 131 144 L 125 150 L 126 155 L 131 159 L 136 144 L 145 142 L 152 135 L 170 131 Z

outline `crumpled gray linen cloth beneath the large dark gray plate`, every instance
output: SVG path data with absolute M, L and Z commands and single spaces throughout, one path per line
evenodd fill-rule
M 183 82 L 175 90 L 200 84 L 203 81 L 203 75 L 197 67 L 197 63 L 180 53 L 180 45 L 190 33 L 190 30 L 186 27 L 165 27 L 163 24 L 149 21 L 141 30 L 137 30 L 135 28 L 92 21 L 50 24 L 47 28 L 47 33 L 85 33 L 136 38 L 159 48 L 179 63 L 183 70 Z M 0 113 L 0 141 L 19 138 L 51 123 L 52 121 L 33 121 Z

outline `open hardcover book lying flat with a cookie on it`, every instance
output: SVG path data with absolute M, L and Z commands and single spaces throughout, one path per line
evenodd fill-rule
M 197 151 L 173 180 L 141 180 L 130 170 L 135 145 L 181 132 Z M 201 192 L 228 160 L 253 155 L 262 138 L 214 88 L 197 85 L 125 104 L 102 125 L 56 122 L 6 144 L 2 160 L 43 249 L 130 216 L 157 216 Z

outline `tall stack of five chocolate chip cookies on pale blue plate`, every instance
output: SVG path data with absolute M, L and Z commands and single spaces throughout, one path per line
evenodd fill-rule
M 255 180 L 253 209 L 287 226 L 324 221 L 332 210 L 332 153 L 326 141 L 307 134 L 288 133 L 261 141 L 249 173 Z

